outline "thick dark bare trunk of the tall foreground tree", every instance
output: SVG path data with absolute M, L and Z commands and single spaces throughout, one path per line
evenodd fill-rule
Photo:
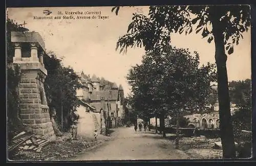
M 219 17 L 218 17 L 219 18 Z M 230 113 L 230 99 L 227 78 L 227 55 L 225 54 L 224 35 L 221 22 L 212 20 L 212 33 L 215 40 L 215 60 L 217 64 L 218 100 L 220 114 L 220 135 L 223 158 L 236 157 L 234 134 Z

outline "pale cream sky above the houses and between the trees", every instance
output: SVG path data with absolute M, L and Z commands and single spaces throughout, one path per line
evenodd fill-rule
M 144 49 L 129 49 L 123 55 L 115 50 L 116 42 L 126 33 L 132 14 L 147 14 L 148 7 L 122 7 L 117 16 L 111 9 L 112 7 L 9 8 L 8 17 L 18 23 L 25 21 L 25 28 L 38 32 L 45 40 L 47 51 L 64 57 L 63 65 L 71 66 L 75 72 L 83 71 L 90 76 L 95 74 L 97 77 L 116 82 L 117 85 L 121 84 L 126 96 L 130 93 L 130 87 L 125 76 L 131 66 L 141 63 Z M 48 16 L 53 16 L 53 19 L 34 19 L 46 16 L 44 10 L 51 11 Z M 62 15 L 58 14 L 58 11 Z M 54 19 L 55 16 L 61 16 L 61 19 Z M 75 19 L 63 19 L 63 16 L 74 16 Z M 86 16 L 87 19 L 77 19 L 77 16 Z M 92 16 L 96 18 L 93 19 Z M 251 78 L 250 29 L 243 36 L 240 44 L 234 46 L 234 53 L 228 56 L 229 81 Z M 197 51 L 201 64 L 215 62 L 214 42 L 209 44 L 206 40 L 195 33 L 171 35 L 172 45 L 189 48 L 190 52 Z

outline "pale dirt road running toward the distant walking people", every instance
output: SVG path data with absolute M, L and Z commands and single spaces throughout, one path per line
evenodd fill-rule
M 73 160 L 188 159 L 184 152 L 174 148 L 172 141 L 153 132 L 136 133 L 133 127 L 121 127 L 115 134 L 114 139 Z

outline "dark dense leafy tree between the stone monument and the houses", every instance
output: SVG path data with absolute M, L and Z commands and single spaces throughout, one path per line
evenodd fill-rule
M 51 114 L 56 110 L 56 120 L 62 131 L 67 131 L 78 107 L 76 89 L 81 86 L 79 77 L 70 67 L 64 67 L 61 59 L 53 52 L 48 52 L 44 57 L 45 68 L 48 70 L 44 86 Z M 53 123 L 55 126 L 55 122 Z M 56 130 L 56 133 L 59 133 Z

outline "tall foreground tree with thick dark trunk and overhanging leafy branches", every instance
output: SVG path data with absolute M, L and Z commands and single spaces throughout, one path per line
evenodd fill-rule
M 114 7 L 116 14 L 120 7 Z M 195 28 L 196 26 L 196 28 Z M 236 157 L 230 114 L 230 99 L 226 61 L 239 44 L 242 33 L 250 26 L 250 6 L 151 6 L 148 16 L 134 14 L 127 34 L 119 38 L 117 49 L 126 52 L 130 46 L 144 46 L 146 51 L 156 45 L 169 44 L 170 33 L 190 34 L 193 30 L 215 42 L 218 100 L 220 108 L 220 135 L 223 158 Z M 211 29 L 211 30 L 210 30 Z

